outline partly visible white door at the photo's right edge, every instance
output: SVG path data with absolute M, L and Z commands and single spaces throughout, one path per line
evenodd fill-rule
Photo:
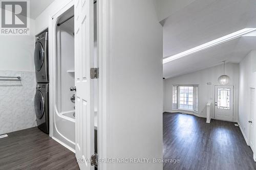
M 251 88 L 250 89 L 250 104 L 251 104 L 251 107 L 250 107 L 250 119 L 249 119 L 249 123 L 250 123 L 250 140 L 249 140 L 249 144 L 250 144 L 250 147 L 251 147 L 251 150 L 253 150 L 254 148 L 254 135 L 253 135 L 253 127 L 254 127 L 254 121 L 253 121 L 253 116 L 254 116 L 254 94 L 255 94 L 255 89 L 254 88 Z

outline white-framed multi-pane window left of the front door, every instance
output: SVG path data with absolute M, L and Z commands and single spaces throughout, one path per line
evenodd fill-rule
M 198 111 L 198 86 L 174 85 L 173 109 Z

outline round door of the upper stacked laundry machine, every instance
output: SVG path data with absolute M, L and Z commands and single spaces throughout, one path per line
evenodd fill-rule
M 35 45 L 35 53 L 34 53 L 34 60 L 35 60 L 35 69 L 40 71 L 42 64 L 44 63 L 45 55 L 44 55 L 44 48 L 40 42 L 37 42 Z

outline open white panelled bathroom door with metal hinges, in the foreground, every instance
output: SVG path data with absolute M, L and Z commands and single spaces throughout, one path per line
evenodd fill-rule
M 94 169 L 93 0 L 75 0 L 76 158 L 81 170 Z

